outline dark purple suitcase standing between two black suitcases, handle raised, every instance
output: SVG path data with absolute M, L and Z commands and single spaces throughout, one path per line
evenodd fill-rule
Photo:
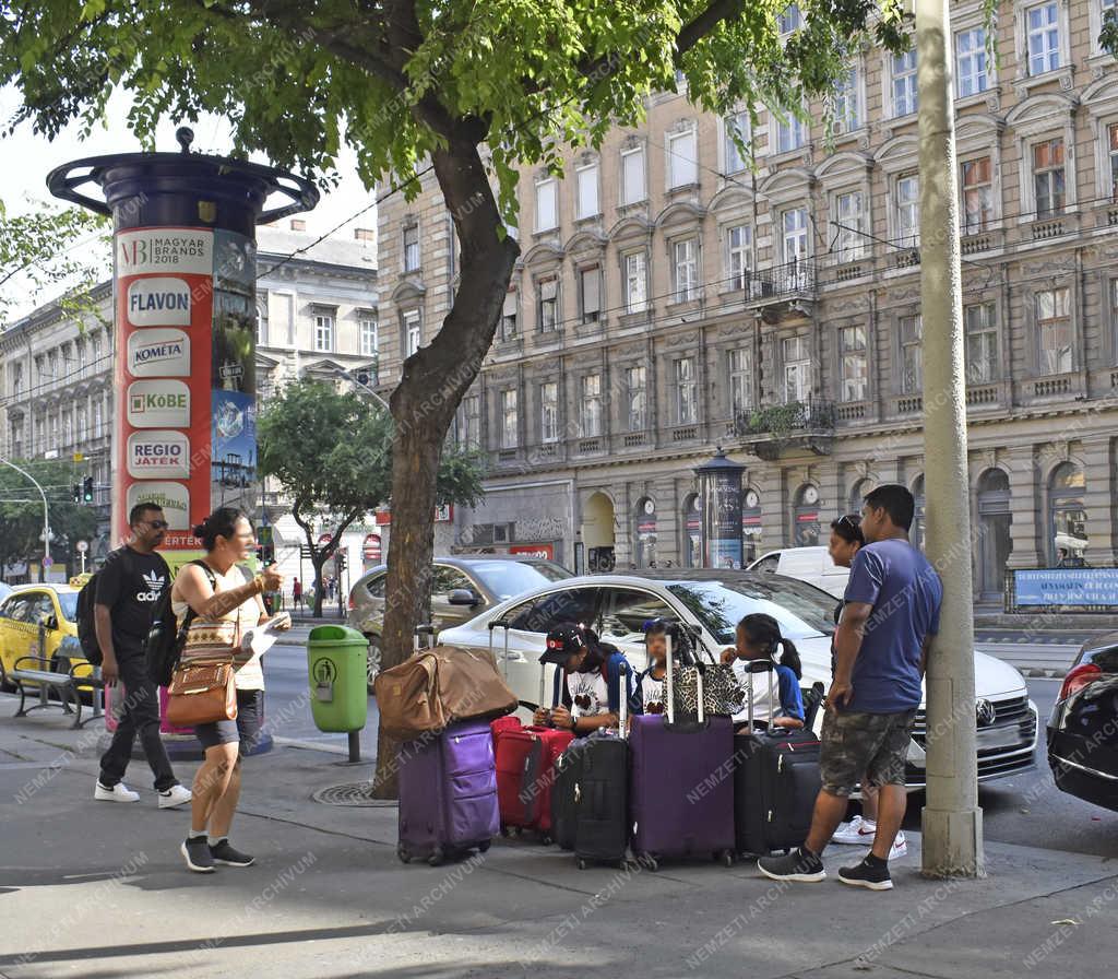
M 672 646 L 667 641 L 667 714 L 633 718 L 629 802 L 633 854 L 655 869 L 661 857 L 733 863 L 733 722 L 704 717 L 675 722 Z

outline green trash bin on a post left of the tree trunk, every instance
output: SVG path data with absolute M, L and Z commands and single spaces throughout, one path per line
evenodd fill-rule
M 344 625 L 319 625 L 306 641 L 311 713 L 319 731 L 360 731 L 369 714 L 369 640 Z

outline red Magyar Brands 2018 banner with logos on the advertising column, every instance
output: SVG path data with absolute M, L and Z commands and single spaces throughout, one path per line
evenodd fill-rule
M 214 232 L 119 232 L 113 543 L 129 510 L 163 508 L 165 549 L 195 550 L 210 506 Z

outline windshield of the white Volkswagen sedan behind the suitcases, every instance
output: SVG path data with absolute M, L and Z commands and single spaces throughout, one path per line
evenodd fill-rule
M 667 590 L 690 609 L 719 643 L 732 646 L 738 622 L 764 612 L 780 623 L 785 639 L 811 639 L 834 632 L 835 600 L 803 582 L 678 582 Z

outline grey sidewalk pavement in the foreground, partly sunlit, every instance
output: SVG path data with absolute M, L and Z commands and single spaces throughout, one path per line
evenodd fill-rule
M 991 844 L 982 881 L 919 875 L 920 839 L 870 893 L 784 886 L 751 863 L 579 870 L 527 838 L 432 868 L 396 857 L 395 807 L 315 791 L 370 765 L 292 747 L 245 764 L 233 841 L 257 865 L 189 874 L 188 816 L 94 802 L 96 732 L 0 697 L 0 976 L 167 979 L 1082 976 L 1118 958 L 1118 862 Z M 189 781 L 192 766 L 180 766 Z

